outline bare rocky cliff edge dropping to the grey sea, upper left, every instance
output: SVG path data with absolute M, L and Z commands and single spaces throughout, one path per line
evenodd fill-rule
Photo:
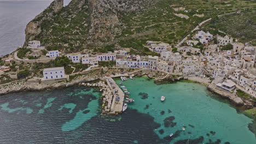
M 42 32 L 40 27 L 41 23 L 44 20 L 52 19 L 54 13 L 57 13 L 63 8 L 63 3 L 63 0 L 54 0 L 48 8 L 46 8 L 42 13 L 37 15 L 31 22 L 27 24 L 25 29 L 25 44 L 27 44 L 28 41 L 33 40 L 36 35 Z

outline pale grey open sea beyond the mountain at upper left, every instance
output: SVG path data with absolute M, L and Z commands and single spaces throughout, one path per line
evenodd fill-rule
M 65 0 L 67 5 L 71 0 Z M 0 57 L 22 46 L 25 28 L 52 1 L 0 1 Z

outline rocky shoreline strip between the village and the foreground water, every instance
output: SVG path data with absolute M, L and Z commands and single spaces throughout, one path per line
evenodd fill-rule
M 216 93 L 225 99 L 230 100 L 231 103 L 236 106 L 243 106 L 243 107 L 246 107 L 247 109 L 254 107 L 253 101 L 243 100 L 240 97 L 236 96 L 236 94 L 234 93 L 220 91 L 219 89 L 216 88 L 216 86 L 204 81 L 203 79 L 200 79 L 200 77 L 197 79 L 191 79 L 189 77 L 183 77 L 183 76 L 173 77 L 170 74 L 166 75 L 161 71 L 152 71 L 152 70 L 139 70 L 136 72 L 132 72 L 132 74 L 139 77 L 146 75 L 149 77 L 149 79 L 154 79 L 154 82 L 156 84 L 174 83 L 181 80 L 190 80 L 190 81 L 199 82 L 202 85 L 206 85 L 209 91 Z M 111 75 L 110 77 L 120 77 L 122 75 L 127 76 L 128 74 L 127 73 L 115 74 L 115 75 Z M 87 75 L 87 76 L 81 77 L 80 79 L 74 80 L 72 82 L 57 82 L 50 85 L 42 85 L 42 84 L 27 85 L 25 80 L 23 81 L 21 80 L 21 81 L 10 82 L 4 85 L 0 85 L 0 95 L 5 95 L 8 93 L 15 93 L 15 92 L 45 91 L 45 90 L 51 90 L 51 89 L 57 89 L 57 88 L 65 88 L 65 87 L 79 85 L 79 83 L 90 83 L 97 80 L 105 81 L 103 77 L 104 77 L 103 75 L 93 75 L 93 76 Z

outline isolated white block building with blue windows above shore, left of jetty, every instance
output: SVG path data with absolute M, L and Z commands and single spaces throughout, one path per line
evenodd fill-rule
M 44 69 L 43 75 L 43 80 L 55 80 L 66 78 L 64 67 Z

